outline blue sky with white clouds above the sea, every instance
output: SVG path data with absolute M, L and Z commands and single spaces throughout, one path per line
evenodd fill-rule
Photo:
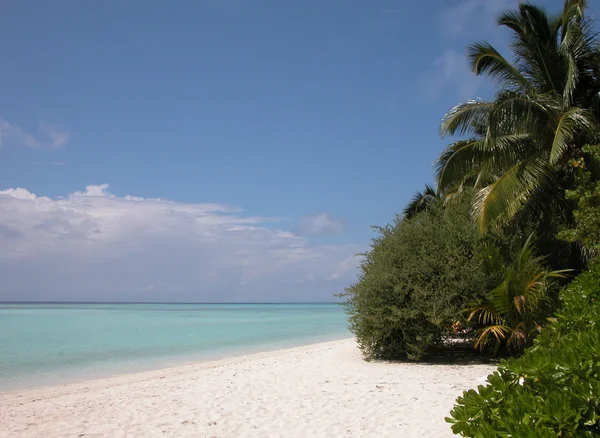
M 516 0 L 424 5 L 3 1 L 0 300 L 334 300 Z

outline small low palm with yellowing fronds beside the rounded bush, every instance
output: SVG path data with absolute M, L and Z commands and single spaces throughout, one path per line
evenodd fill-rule
M 528 345 L 550 314 L 549 291 L 552 280 L 564 278 L 570 270 L 549 271 L 544 257 L 535 256 L 530 235 L 514 260 L 505 263 L 497 248 L 488 247 L 490 275 L 501 274 L 500 283 L 487 300 L 467 309 L 467 321 L 481 326 L 476 332 L 475 348 L 483 350 L 506 344 L 509 352 Z

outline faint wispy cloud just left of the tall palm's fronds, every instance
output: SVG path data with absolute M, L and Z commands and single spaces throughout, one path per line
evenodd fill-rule
M 469 69 L 467 59 L 455 50 L 442 53 L 419 80 L 419 87 L 429 98 L 438 98 L 450 91 L 459 100 L 473 99 L 483 84 Z

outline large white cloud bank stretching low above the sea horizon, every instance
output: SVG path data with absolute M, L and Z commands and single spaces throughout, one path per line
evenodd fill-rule
M 221 204 L 0 191 L 0 300 L 313 301 L 354 281 L 363 250 L 310 245 Z

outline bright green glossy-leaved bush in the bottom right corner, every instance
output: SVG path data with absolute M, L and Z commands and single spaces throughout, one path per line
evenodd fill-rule
M 600 265 L 561 294 L 561 309 L 522 357 L 459 397 L 452 430 L 468 437 L 600 435 Z

